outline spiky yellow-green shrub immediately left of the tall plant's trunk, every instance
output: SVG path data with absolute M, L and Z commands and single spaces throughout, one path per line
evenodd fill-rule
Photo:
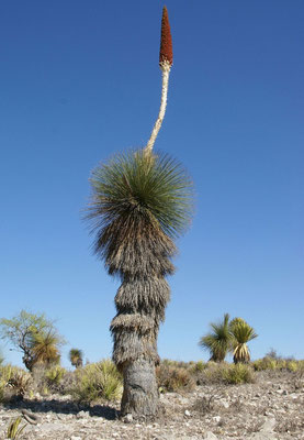
M 86 365 L 74 373 L 76 383 L 70 392 L 82 403 L 98 399 L 116 400 L 121 398 L 123 384 L 122 376 L 114 363 L 103 360 L 95 364 Z

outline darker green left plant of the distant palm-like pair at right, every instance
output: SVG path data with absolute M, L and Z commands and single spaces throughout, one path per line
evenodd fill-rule
M 210 361 L 223 362 L 232 346 L 229 315 L 225 314 L 223 321 L 210 324 L 212 331 L 202 337 L 199 344 L 210 352 Z

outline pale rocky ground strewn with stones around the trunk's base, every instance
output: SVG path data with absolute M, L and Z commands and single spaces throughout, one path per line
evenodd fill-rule
M 255 384 L 203 385 L 189 394 L 161 395 L 160 403 L 156 420 L 135 421 L 120 420 L 119 404 L 79 407 L 68 396 L 35 396 L 0 406 L 0 438 L 22 415 L 23 440 L 304 440 L 299 373 L 260 372 Z

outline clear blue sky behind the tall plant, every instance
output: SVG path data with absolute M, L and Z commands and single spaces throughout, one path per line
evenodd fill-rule
M 195 184 L 159 353 L 207 359 L 224 312 L 304 358 L 304 2 L 168 0 L 174 63 L 157 148 Z M 2 0 L 0 316 L 57 320 L 91 362 L 110 356 L 119 287 L 92 255 L 81 210 L 91 169 L 144 146 L 156 120 L 158 0 Z M 20 353 L 2 346 L 8 361 Z

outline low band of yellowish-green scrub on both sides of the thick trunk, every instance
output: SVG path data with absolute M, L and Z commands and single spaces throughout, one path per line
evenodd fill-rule
M 156 369 L 159 393 L 192 392 L 198 385 L 232 386 L 255 383 L 261 371 L 288 372 L 296 380 L 303 377 L 304 361 L 292 359 L 263 359 L 247 364 L 227 362 L 177 362 L 164 360 Z M 0 402 L 31 399 L 42 396 L 70 395 L 81 404 L 117 402 L 123 392 L 123 380 L 114 363 L 103 360 L 75 371 L 60 365 L 38 365 L 30 373 L 12 365 L 0 366 Z

